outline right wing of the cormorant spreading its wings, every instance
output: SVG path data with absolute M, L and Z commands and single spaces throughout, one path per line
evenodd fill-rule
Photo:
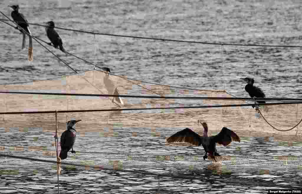
M 223 127 L 217 135 L 214 135 L 214 136 L 210 137 L 210 141 L 214 142 L 214 143 L 222 144 L 224 146 L 227 146 L 232 141 L 240 142 L 240 138 L 232 130 L 230 130 L 226 127 Z

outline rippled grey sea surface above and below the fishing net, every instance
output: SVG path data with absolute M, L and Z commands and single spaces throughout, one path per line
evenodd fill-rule
M 0 11 L 10 17 L 11 8 L 7 6 L 17 3 L 30 23 L 43 24 L 52 20 L 57 27 L 76 30 L 224 44 L 299 46 L 302 40 L 302 4 L 299 1 L 2 0 Z M 5 19 L 2 14 L 0 18 Z M 0 25 L 0 83 L 74 73 L 35 41 L 34 61 L 28 62 L 27 49 L 20 50 L 22 36 L 19 31 L 1 21 Z M 30 30 L 34 36 L 48 41 L 43 27 L 31 25 Z M 221 46 L 57 31 L 66 51 L 109 67 L 118 75 L 180 87 L 226 89 L 240 97 L 247 97 L 247 94 L 245 84 L 239 78 L 252 77 L 267 97 L 301 97 L 302 94 L 300 48 Z M 93 68 L 53 47 L 48 48 L 78 72 Z M 148 129 L 132 130 L 143 132 L 143 135 L 133 137 L 129 129 L 118 126 L 114 128 L 119 133 L 117 137 L 96 138 L 95 134 L 86 134 L 77 139 L 75 148 L 95 152 L 87 157 L 99 161 L 102 158 L 107 163 L 124 161 L 117 163 L 118 168 L 127 169 L 133 163 L 138 170 L 159 173 L 174 170 L 176 175 L 189 174 L 195 178 L 118 173 L 62 164 L 61 193 L 267 193 L 269 188 L 302 187 L 301 142 L 289 145 L 271 137 L 265 140 L 243 137 L 240 143 L 218 147 L 219 152 L 233 159 L 217 167 L 211 161 L 203 161 L 200 156 L 204 153 L 199 148 L 165 146 L 165 136 L 171 135 L 171 130 L 161 129 L 160 137 L 153 136 Z M 180 129 L 173 129 L 173 132 L 177 130 Z M 41 129 L 8 132 L 0 128 L 0 132 L 2 146 L 31 146 L 29 142 L 32 143 L 35 137 L 39 138 L 32 146 L 44 146 L 44 143 L 46 146 L 49 145 L 46 142 L 53 141 L 52 134 Z M 83 147 L 85 150 L 81 149 Z M 37 151 L 37 154 L 42 152 Z M 114 158 L 114 154 L 109 154 L 110 158 L 96 152 L 133 154 L 133 158 L 147 159 L 140 164 L 138 159 L 122 160 Z M 16 151 L 6 147 L 5 153 Z M 18 154 L 31 156 L 34 151 L 25 148 Z M 155 159 L 150 155 L 135 154 L 153 154 Z M 169 154 L 198 158 L 174 163 L 157 160 L 161 155 Z M 269 162 L 269 158 L 282 155 L 295 157 L 292 160 L 295 162 Z M 242 162 L 258 156 L 266 158 L 263 163 L 259 160 Z M 57 192 L 56 166 L 53 164 L 8 157 L 1 157 L 0 161 L 0 193 Z

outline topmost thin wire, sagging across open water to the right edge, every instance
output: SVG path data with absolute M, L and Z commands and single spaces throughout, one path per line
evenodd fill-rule
M 0 19 L 0 20 L 5 21 L 4 19 Z M 42 27 L 47 27 L 45 25 L 35 24 L 35 23 L 28 23 L 28 24 L 42 26 Z M 138 37 L 138 36 L 110 34 L 110 33 L 96 33 L 96 32 L 90 32 L 90 31 L 85 31 L 85 30 L 74 30 L 74 29 L 62 28 L 62 27 L 55 27 L 55 28 L 58 28 L 58 29 L 61 29 L 61 30 L 74 31 L 74 32 L 96 34 L 96 35 L 105 35 L 105 36 L 114 36 L 114 37 L 126 37 L 126 38 L 136 38 L 136 39 L 147 39 L 147 40 L 160 40 L 160 41 L 170 41 L 170 42 L 182 42 L 182 43 L 198 43 L 198 44 L 225 45 L 225 46 L 266 46 L 266 47 L 302 48 L 302 46 L 291 46 L 291 45 L 260 45 L 260 44 L 209 43 L 209 42 L 201 42 L 201 41 L 174 40 L 174 39 L 152 38 L 152 37 Z

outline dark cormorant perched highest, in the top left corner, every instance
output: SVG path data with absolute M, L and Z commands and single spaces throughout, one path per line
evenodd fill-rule
M 11 12 L 11 17 L 13 18 L 14 22 L 18 24 L 18 26 L 15 28 L 20 30 L 20 32 L 23 34 L 22 49 L 25 48 L 25 32 L 28 33 L 28 61 L 33 61 L 33 40 L 30 36 L 31 31 L 28 28 L 28 21 L 26 20 L 23 14 L 19 13 L 19 5 L 8 5 L 8 7 L 11 7 L 14 10 Z

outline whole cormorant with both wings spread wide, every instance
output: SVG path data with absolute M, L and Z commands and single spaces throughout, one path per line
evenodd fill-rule
M 200 121 L 198 120 L 198 123 Z M 204 127 L 203 136 L 198 135 L 194 131 L 192 131 L 189 128 L 185 128 L 171 137 L 169 137 L 166 141 L 168 143 L 172 142 L 187 142 L 196 146 L 202 145 L 204 148 L 205 154 L 204 154 L 204 160 L 207 158 L 207 153 L 211 156 L 211 158 L 215 159 L 215 156 L 220 156 L 217 153 L 216 149 L 216 143 L 222 144 L 223 146 L 229 145 L 232 141 L 240 142 L 240 138 L 238 135 L 233 132 L 232 130 L 223 127 L 221 131 L 214 136 L 208 136 L 208 126 L 206 122 L 201 123 Z

